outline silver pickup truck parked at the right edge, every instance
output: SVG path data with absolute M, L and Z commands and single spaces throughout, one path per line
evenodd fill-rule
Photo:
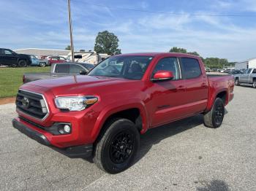
M 246 69 L 243 74 L 234 75 L 235 85 L 252 85 L 256 88 L 256 69 Z

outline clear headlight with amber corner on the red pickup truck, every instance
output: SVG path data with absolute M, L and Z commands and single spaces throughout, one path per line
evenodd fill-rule
M 69 111 L 81 111 L 86 106 L 95 104 L 98 101 L 94 96 L 70 96 L 55 98 L 55 104 L 59 109 L 69 109 Z

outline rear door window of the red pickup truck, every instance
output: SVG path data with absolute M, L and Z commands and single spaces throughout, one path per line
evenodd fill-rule
M 181 66 L 185 79 L 200 77 L 202 74 L 200 64 L 195 58 L 181 58 Z

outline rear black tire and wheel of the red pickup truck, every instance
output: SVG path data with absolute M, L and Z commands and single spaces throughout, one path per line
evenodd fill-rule
M 203 115 L 203 123 L 208 128 L 219 128 L 225 114 L 225 106 L 221 98 L 216 98 L 211 111 Z

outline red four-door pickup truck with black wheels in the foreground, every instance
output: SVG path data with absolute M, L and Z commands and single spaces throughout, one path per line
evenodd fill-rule
M 115 55 L 86 76 L 22 85 L 12 125 L 69 157 L 93 157 L 116 174 L 132 164 L 140 134 L 150 128 L 195 114 L 218 128 L 233 87 L 231 76 L 207 76 L 194 55 Z

